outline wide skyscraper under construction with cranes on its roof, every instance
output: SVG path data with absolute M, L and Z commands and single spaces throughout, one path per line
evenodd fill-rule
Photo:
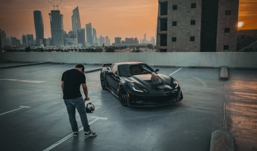
M 51 40 L 53 46 L 64 46 L 63 15 L 60 10 L 51 10 L 49 13 L 51 23 Z

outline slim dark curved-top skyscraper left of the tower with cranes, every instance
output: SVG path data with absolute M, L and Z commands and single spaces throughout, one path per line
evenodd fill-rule
M 44 39 L 44 22 L 42 20 L 42 13 L 39 10 L 34 11 L 34 25 L 36 31 L 36 45 L 40 46 L 40 40 Z

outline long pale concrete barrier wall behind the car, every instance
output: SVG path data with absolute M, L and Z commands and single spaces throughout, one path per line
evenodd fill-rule
M 228 66 L 257 68 L 257 52 L 186 52 L 186 53 L 79 53 L 21 52 L 2 53 L 3 60 L 52 61 L 60 63 L 106 64 L 121 61 L 143 61 L 161 66 Z

